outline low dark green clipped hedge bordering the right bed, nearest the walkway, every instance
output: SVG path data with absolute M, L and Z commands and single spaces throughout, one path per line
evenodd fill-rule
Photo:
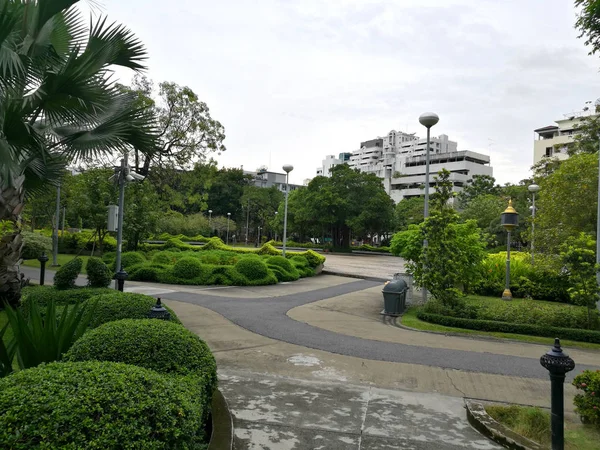
M 501 333 L 528 334 L 531 336 L 542 337 L 560 337 L 561 339 L 600 344 L 600 331 L 593 330 L 497 322 L 494 320 L 463 319 L 461 317 L 443 316 L 441 314 L 431 314 L 423 311 L 417 312 L 417 318 L 425 322 L 437 323 L 438 325 L 447 327 Z

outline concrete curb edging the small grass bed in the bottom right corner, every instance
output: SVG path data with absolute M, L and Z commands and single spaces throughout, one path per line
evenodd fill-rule
M 466 408 L 469 423 L 492 441 L 514 450 L 543 450 L 537 442 L 515 433 L 492 419 L 483 404 L 467 400 Z

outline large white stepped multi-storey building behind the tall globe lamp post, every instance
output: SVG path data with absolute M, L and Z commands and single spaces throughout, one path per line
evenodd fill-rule
M 383 179 L 386 192 L 395 202 L 405 197 L 423 195 L 427 139 L 414 133 L 390 131 L 385 137 L 361 142 L 352 152 L 348 164 L 361 172 L 374 173 Z M 442 134 L 431 138 L 430 186 L 442 169 L 449 170 L 454 191 L 460 192 L 473 175 L 492 176 L 490 157 L 472 151 L 458 151 L 458 144 Z

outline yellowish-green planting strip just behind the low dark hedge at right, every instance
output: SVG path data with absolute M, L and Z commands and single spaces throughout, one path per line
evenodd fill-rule
M 600 330 L 600 314 L 585 307 L 536 300 L 506 302 L 500 298 L 467 298 L 461 307 L 448 308 L 440 302 L 425 305 L 425 312 L 464 319 L 543 325 L 560 328 Z

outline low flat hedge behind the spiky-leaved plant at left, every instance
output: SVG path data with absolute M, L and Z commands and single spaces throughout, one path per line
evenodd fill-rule
M 28 286 L 21 291 L 21 309 L 26 316 L 29 314 L 31 304 L 36 303 L 40 310 L 44 310 L 49 302 L 53 301 L 57 307 L 75 305 L 97 295 L 114 293 L 108 288 L 75 287 L 68 290 L 59 290 L 53 286 Z

